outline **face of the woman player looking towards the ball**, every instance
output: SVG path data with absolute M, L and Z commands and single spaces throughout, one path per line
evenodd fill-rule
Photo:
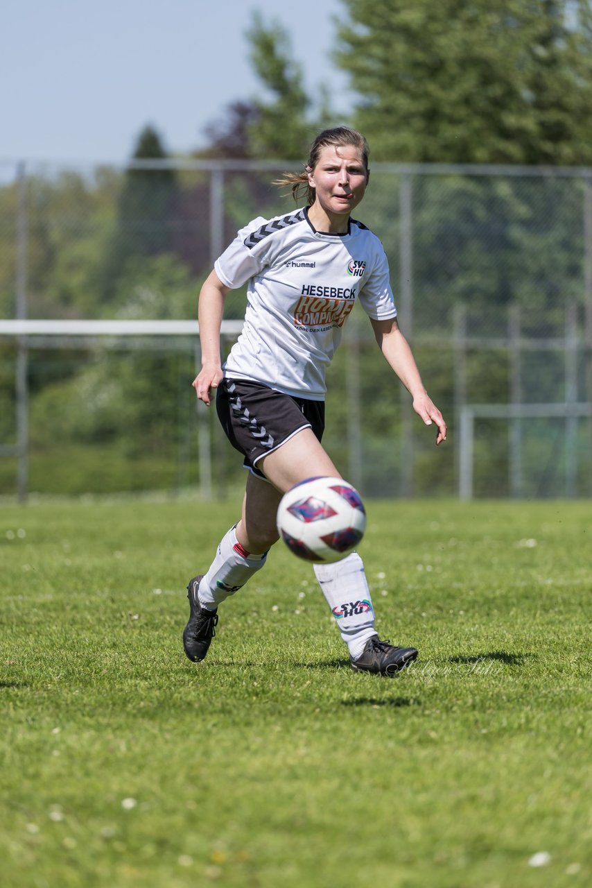
M 357 207 L 368 182 L 368 172 L 359 149 L 353 145 L 320 149 L 319 162 L 309 170 L 309 185 L 315 188 L 315 203 L 328 216 L 349 216 Z

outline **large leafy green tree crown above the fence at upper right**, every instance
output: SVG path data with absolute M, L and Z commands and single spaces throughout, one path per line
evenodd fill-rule
M 343 0 L 336 59 L 377 160 L 592 163 L 585 0 Z

